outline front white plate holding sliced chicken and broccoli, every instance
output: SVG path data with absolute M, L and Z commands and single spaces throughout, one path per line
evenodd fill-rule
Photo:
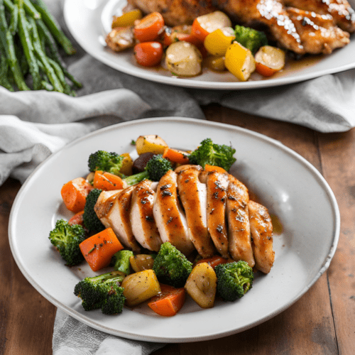
M 275 264 L 257 275 L 253 288 L 236 302 L 216 302 L 202 310 L 190 298 L 175 317 L 155 315 L 147 305 L 107 316 L 85 312 L 74 286 L 94 275 L 87 264 L 64 266 L 48 234 L 59 218 L 69 218 L 62 185 L 87 174 L 89 154 L 103 149 L 134 151 L 132 139 L 158 134 L 170 146 L 193 149 L 204 138 L 231 143 L 237 161 L 231 173 L 268 207 L 275 224 Z M 280 230 L 280 225 L 283 230 Z M 285 310 L 327 269 L 337 247 L 339 211 L 322 175 L 278 141 L 246 129 L 183 118 L 142 119 L 89 134 L 53 154 L 21 187 L 11 210 L 11 251 L 23 275 L 55 306 L 90 326 L 121 337 L 151 342 L 195 342 L 249 329 Z M 103 272 L 103 271 L 101 271 Z M 101 273 L 100 272 L 100 273 Z

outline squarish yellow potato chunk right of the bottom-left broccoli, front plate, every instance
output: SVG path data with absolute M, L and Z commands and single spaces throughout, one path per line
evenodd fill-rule
M 133 307 L 160 293 L 160 285 L 153 270 L 132 273 L 124 278 L 121 286 L 124 288 L 126 305 Z

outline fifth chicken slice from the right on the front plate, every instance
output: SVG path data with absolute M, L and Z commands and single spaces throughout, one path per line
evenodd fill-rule
M 163 243 L 169 241 L 186 256 L 195 250 L 178 199 L 177 174 L 173 170 L 169 170 L 158 183 L 153 216 Z

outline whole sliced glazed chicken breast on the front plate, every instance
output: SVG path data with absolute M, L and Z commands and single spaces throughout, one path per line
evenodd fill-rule
M 268 210 L 249 200 L 245 185 L 228 173 L 182 165 L 159 182 L 143 180 L 124 190 L 103 191 L 95 211 L 135 252 L 158 251 L 169 241 L 186 256 L 194 251 L 202 258 L 220 254 L 263 273 L 273 266 Z

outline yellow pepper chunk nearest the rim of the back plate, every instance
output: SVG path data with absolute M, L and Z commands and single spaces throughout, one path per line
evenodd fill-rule
M 249 79 L 255 70 L 255 60 L 251 51 L 238 42 L 232 43 L 226 50 L 224 64 L 241 82 Z

